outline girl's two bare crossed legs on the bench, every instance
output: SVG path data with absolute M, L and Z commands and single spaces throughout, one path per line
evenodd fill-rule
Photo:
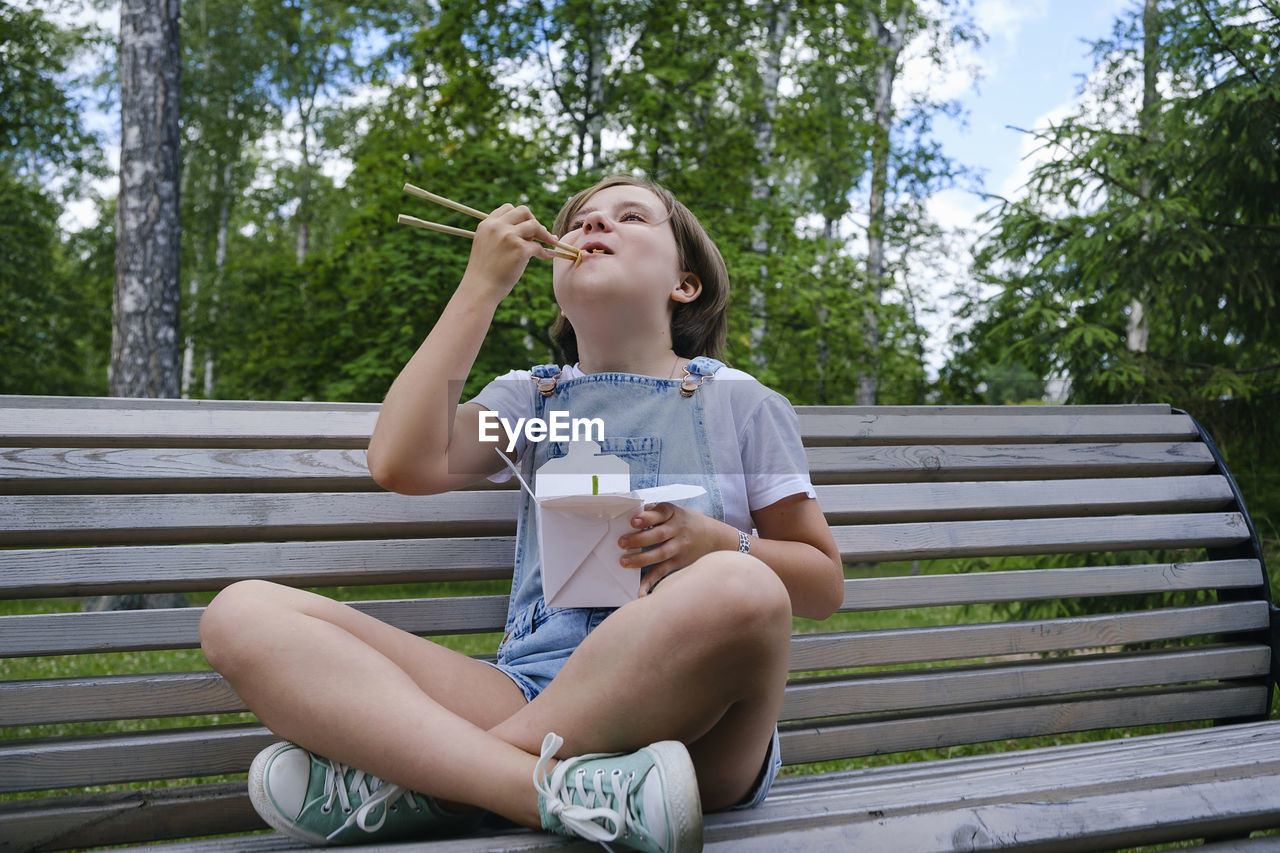
M 227 588 L 200 630 L 210 665 L 282 738 L 538 827 L 548 731 L 561 758 L 682 740 L 703 807 L 739 802 L 782 702 L 791 607 L 760 561 L 709 555 L 605 619 L 527 703 L 485 663 L 275 584 Z

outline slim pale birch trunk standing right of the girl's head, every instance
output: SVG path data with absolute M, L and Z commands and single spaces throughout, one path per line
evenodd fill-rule
M 858 378 L 854 402 L 859 406 L 874 406 L 879 382 L 879 307 L 884 295 L 884 205 L 888 195 L 890 132 L 893 128 L 893 81 L 897 77 L 897 60 L 902 53 L 904 32 L 906 31 L 908 4 L 899 9 L 892 26 L 874 10 L 868 13 L 872 35 L 879 46 L 879 64 L 876 68 L 876 96 L 872 111 L 876 122 L 872 143 L 872 193 L 868 205 L 867 223 L 867 289 L 868 306 L 863 313 L 863 342 L 867 347 L 868 365 Z

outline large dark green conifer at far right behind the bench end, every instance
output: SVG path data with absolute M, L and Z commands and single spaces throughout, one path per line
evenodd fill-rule
M 977 272 L 995 295 L 970 305 L 954 387 L 1007 361 L 1068 379 L 1074 402 L 1171 402 L 1239 453 L 1258 515 L 1280 507 L 1265 474 L 1280 461 L 1277 45 L 1274 3 L 1169 0 L 1116 22 L 1078 113 L 1036 132 L 1052 159 L 991 214 Z

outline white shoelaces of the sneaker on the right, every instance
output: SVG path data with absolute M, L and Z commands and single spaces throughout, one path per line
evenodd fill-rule
M 556 733 L 549 733 L 543 739 L 541 756 L 534 766 L 534 788 L 547 800 L 547 811 L 559 818 L 564 829 L 575 835 L 591 841 L 614 841 L 626 830 L 636 831 L 641 827 L 639 815 L 628 811 L 627 803 L 631 783 L 635 774 L 623 774 L 614 770 L 608 774 L 603 768 L 591 774 L 591 784 L 586 785 L 586 770 L 579 767 L 573 771 L 572 781 L 566 779 L 575 765 L 593 756 L 566 758 L 556 766 L 548 779 L 547 766 L 564 744 L 564 739 Z M 577 792 L 580 803 L 573 802 L 573 792 Z M 613 829 L 605 829 L 596 821 L 607 821 Z M 605 848 L 611 848 L 604 844 Z

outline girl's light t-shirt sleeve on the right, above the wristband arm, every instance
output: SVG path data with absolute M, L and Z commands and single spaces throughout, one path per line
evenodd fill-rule
M 817 497 L 800 442 L 800 419 L 786 397 L 769 392 L 742 424 L 739 444 L 750 511 L 792 494 Z

